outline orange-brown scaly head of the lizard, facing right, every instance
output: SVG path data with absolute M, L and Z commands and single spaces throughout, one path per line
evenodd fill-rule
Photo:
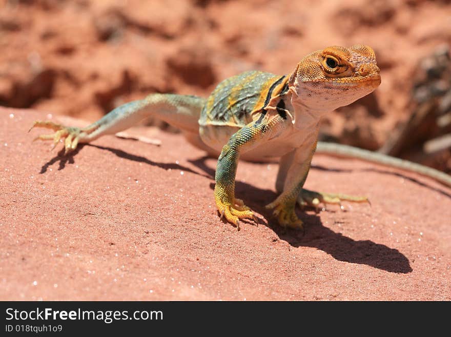
M 289 87 L 309 110 L 332 111 L 374 91 L 381 83 L 372 48 L 356 45 L 317 50 L 298 63 Z

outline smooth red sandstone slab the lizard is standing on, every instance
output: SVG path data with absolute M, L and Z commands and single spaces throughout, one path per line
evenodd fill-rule
M 215 210 L 216 161 L 181 135 L 63 157 L 32 143 L 42 118 L 0 109 L 0 300 L 451 300 L 451 189 L 431 179 L 317 155 L 306 187 L 372 206 L 299 210 L 302 235 L 264 210 L 277 165 L 242 162 L 260 224 L 237 231 Z

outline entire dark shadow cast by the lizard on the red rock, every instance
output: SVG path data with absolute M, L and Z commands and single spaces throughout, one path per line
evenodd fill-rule
M 94 146 L 101 150 L 108 150 L 121 158 L 157 166 L 166 170 L 179 169 L 192 172 L 194 174 L 199 174 L 210 180 L 214 180 L 215 176 L 214 168 L 211 168 L 206 164 L 206 160 L 210 158 L 209 156 L 203 156 L 197 158 L 196 160 L 189 160 L 191 164 L 198 167 L 205 173 L 202 174 L 179 164 L 156 163 L 148 160 L 146 157 L 130 154 L 114 148 L 92 144 L 82 144 L 69 155 L 64 155 L 64 150 L 61 150 L 55 157 L 43 165 L 40 173 L 45 173 L 47 169 L 57 161 L 59 161 L 58 170 L 63 169 L 67 163 L 74 164 L 74 155 L 83 149 L 84 146 Z M 210 188 L 214 189 L 213 182 L 210 184 Z M 235 185 L 235 192 L 238 197 L 246 200 L 252 209 L 256 210 L 260 214 L 263 214 L 265 219 L 270 219 L 268 222 L 265 222 L 264 219 L 260 218 L 260 225 L 263 224 L 273 229 L 280 240 L 286 241 L 293 247 L 304 246 L 317 248 L 330 254 L 338 261 L 366 264 L 388 272 L 408 273 L 412 271 L 407 257 L 405 257 L 405 255 L 397 249 L 392 249 L 385 245 L 374 243 L 370 240 L 356 241 L 350 237 L 342 235 L 341 233 L 334 232 L 333 230 L 324 227 L 321 223 L 320 217 L 316 214 L 307 214 L 305 212 L 298 213 L 300 219 L 307 227 L 305 233 L 281 228 L 273 220 L 271 220 L 271 212 L 262 206 L 267 205 L 276 198 L 277 194 L 272 190 L 260 189 L 250 184 L 237 181 Z

